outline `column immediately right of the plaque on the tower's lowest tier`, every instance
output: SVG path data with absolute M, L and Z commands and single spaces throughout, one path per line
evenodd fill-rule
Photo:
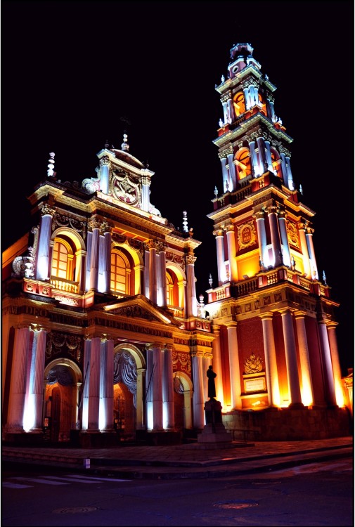
M 278 365 L 276 359 L 275 339 L 273 337 L 273 314 L 264 313 L 262 330 L 264 339 L 266 384 L 269 406 L 280 406 L 280 388 L 278 384 Z

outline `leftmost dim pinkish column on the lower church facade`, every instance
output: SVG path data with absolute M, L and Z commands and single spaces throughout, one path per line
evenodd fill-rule
M 10 398 L 8 406 L 9 432 L 23 432 L 23 411 L 27 386 L 27 365 L 30 353 L 30 329 L 22 327 L 15 330 L 13 344 L 13 363 L 11 368 Z

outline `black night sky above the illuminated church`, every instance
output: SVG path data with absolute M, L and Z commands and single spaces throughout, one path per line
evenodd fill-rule
M 106 141 L 155 172 L 150 200 L 202 241 L 196 291 L 217 286 L 211 200 L 222 190 L 214 86 L 249 42 L 276 85 L 295 186 L 314 217 L 318 273 L 340 302 L 343 374 L 354 358 L 352 1 L 1 1 L 1 245 L 32 227 L 26 197 L 46 178 L 96 177 Z

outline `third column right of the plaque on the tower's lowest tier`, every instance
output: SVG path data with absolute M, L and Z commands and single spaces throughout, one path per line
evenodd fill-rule
M 312 385 L 311 363 L 309 362 L 309 349 L 306 334 L 306 325 L 304 324 L 303 311 L 295 312 L 297 341 L 299 349 L 299 364 L 301 366 L 302 377 L 302 403 L 304 406 L 314 404 L 314 394 Z

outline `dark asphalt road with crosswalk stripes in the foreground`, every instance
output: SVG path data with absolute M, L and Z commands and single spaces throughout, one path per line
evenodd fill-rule
M 353 526 L 352 457 L 206 480 L 2 467 L 1 526 Z

